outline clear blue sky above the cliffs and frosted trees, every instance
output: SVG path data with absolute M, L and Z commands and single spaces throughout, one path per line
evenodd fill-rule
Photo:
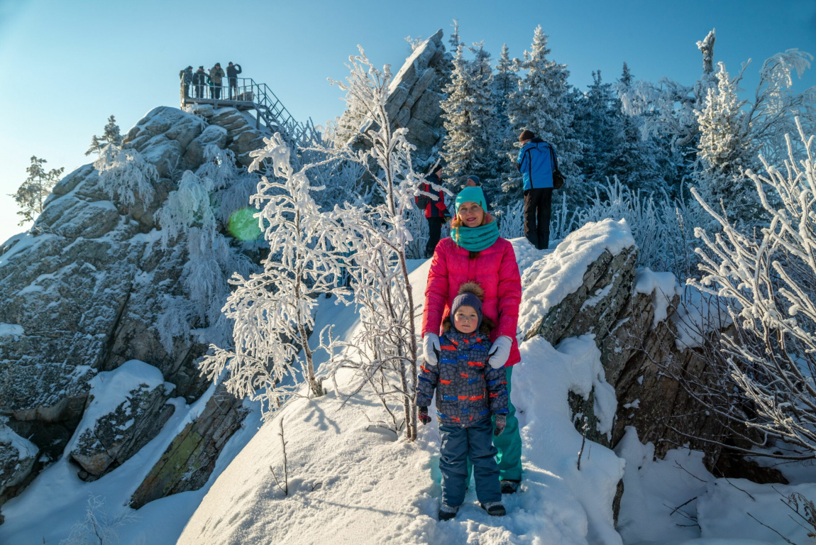
M 188 64 L 242 64 L 290 112 L 317 124 L 342 113 L 326 78 L 343 78 L 357 44 L 396 71 L 405 37 L 447 35 L 458 19 L 465 42 L 499 55 L 530 46 L 541 24 L 552 59 L 584 88 L 592 70 L 606 81 L 627 61 L 636 78 L 691 83 L 702 71 L 695 42 L 716 27 L 715 61 L 731 73 L 753 59 L 752 91 L 763 60 L 798 48 L 816 55 L 816 0 L 605 2 L 175 2 L 0 0 L 0 242 L 19 232 L 7 197 L 25 179 L 29 157 L 64 166 L 84 152 L 113 113 L 122 131 L 159 105 L 178 105 L 178 71 Z M 816 69 L 796 87 L 816 85 Z

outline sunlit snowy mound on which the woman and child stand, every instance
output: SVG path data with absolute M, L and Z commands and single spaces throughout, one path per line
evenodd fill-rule
M 529 263 L 537 250 L 514 243 Z M 428 266 L 411 274 L 417 294 Z M 355 319 L 353 309 L 336 315 L 338 324 Z M 570 389 L 588 395 L 602 382 L 600 352 L 581 338 L 557 348 L 537 339 L 521 353 L 512 395 L 526 473 L 521 494 L 505 497 L 508 516 L 487 516 L 470 490 L 456 519 L 439 524 L 436 423 L 407 443 L 387 428 L 375 397 L 364 390 L 343 405 L 330 387 L 326 397 L 291 401 L 264 424 L 215 481 L 179 543 L 621 543 L 612 499 L 623 461 L 593 444 L 578 470 L 581 436 L 566 401 Z M 613 414 L 614 405 L 606 410 Z M 281 423 L 288 495 L 275 481 L 283 474 Z

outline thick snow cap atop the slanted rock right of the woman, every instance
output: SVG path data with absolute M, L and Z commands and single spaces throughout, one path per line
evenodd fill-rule
M 630 246 L 635 246 L 635 239 L 626 219 L 604 219 L 570 233 L 552 253 L 522 274 L 524 295 L 519 308 L 518 334 L 524 335 L 539 317 L 578 290 L 583 284 L 584 272 L 604 250 L 618 255 Z

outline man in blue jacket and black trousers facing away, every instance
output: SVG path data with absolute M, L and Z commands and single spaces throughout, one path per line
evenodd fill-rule
M 539 250 L 550 245 L 552 173 L 557 168 L 555 150 L 536 138 L 533 131 L 521 131 L 521 149 L 516 166 L 524 177 L 524 236 Z

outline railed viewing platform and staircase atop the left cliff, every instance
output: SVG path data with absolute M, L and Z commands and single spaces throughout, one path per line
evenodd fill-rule
M 181 82 L 181 106 L 211 104 L 214 108 L 234 108 L 239 111 L 255 111 L 255 127 L 270 133 L 280 132 L 284 138 L 306 146 L 319 144 L 322 135 L 314 126 L 312 118 L 300 123 L 277 98 L 266 83 L 256 83 L 252 78 L 235 78 L 236 86 L 187 85 Z M 224 78 L 224 83 L 228 78 Z

